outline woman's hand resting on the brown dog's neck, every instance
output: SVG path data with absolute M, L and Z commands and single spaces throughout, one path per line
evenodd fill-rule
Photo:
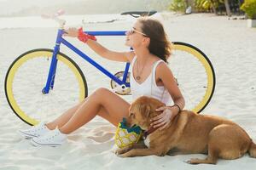
M 154 128 L 159 127 L 159 130 L 166 128 L 172 122 L 173 117 L 176 116 L 178 112 L 176 107 L 170 106 L 162 106 L 155 111 L 163 111 L 160 115 L 151 119 L 150 125 L 154 126 Z

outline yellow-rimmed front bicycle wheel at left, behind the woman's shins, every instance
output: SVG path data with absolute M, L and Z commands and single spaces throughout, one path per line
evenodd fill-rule
M 54 88 L 44 94 L 53 51 L 34 49 L 21 54 L 5 77 L 5 94 L 11 109 L 27 124 L 52 121 L 87 97 L 87 83 L 79 66 L 57 54 Z

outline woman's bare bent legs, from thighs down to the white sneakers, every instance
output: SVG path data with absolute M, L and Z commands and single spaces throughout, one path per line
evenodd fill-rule
M 128 116 L 129 107 L 130 104 L 117 94 L 107 88 L 99 88 L 82 102 L 82 105 L 74 106 L 64 116 L 59 117 L 58 122 L 66 122 L 68 119 L 69 121 L 58 127 L 62 133 L 72 133 L 85 123 L 90 122 L 96 115 L 118 125 L 122 117 Z M 72 114 L 72 111 L 75 112 Z

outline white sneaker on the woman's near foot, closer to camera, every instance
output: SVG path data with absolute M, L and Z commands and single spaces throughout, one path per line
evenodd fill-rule
M 61 133 L 58 128 L 39 136 L 32 138 L 31 143 L 34 146 L 59 146 L 67 141 L 67 134 Z

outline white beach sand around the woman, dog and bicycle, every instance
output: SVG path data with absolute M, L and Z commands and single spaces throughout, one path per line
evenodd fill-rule
M 2 24 L 2 23 L 1 23 Z M 228 20 L 212 14 L 192 14 L 164 20 L 172 41 L 189 42 L 201 48 L 212 60 L 217 84 L 211 103 L 203 111 L 224 116 L 246 129 L 256 142 L 256 29 L 246 27 L 246 20 Z M 131 23 L 114 22 L 88 26 L 91 30 L 126 30 Z M 38 34 L 40 32 L 40 35 Z M 205 155 L 145 156 L 119 158 L 113 154 L 115 128 L 97 117 L 83 128 L 69 135 L 68 143 L 57 148 L 36 148 L 29 140 L 16 133 L 28 127 L 9 108 L 5 99 L 4 77 L 11 62 L 32 48 L 52 48 L 55 42 L 53 28 L 23 28 L 0 30 L 0 169 L 254 169 L 256 159 L 248 155 L 233 161 L 219 160 L 218 165 L 189 165 L 183 161 L 204 158 Z M 100 39 L 109 48 L 123 46 Z M 119 38 L 120 43 L 124 38 Z M 73 41 L 79 47 L 83 45 Z M 118 43 L 119 44 L 119 43 Z M 66 49 L 65 54 L 71 55 Z M 89 86 L 109 88 L 109 80 L 80 59 Z M 104 59 L 96 58 L 100 62 Z M 106 65 L 106 64 L 105 64 Z M 114 65 L 114 67 L 113 67 Z M 124 65 L 110 63 L 111 71 Z M 125 97 L 131 100 L 130 97 Z

